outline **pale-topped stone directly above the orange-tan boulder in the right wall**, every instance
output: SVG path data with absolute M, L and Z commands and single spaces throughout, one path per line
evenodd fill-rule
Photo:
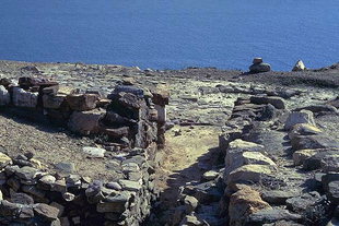
M 245 165 L 231 171 L 227 185 L 239 181 L 259 182 L 262 177 L 270 177 L 274 170 L 276 168 L 269 165 Z

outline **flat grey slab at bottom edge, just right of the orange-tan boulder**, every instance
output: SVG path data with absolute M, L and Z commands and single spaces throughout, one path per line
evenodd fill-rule
M 274 223 L 282 219 L 297 222 L 302 219 L 302 216 L 299 214 L 292 214 L 289 211 L 281 209 L 260 210 L 249 215 L 246 226 L 262 225 L 268 223 Z

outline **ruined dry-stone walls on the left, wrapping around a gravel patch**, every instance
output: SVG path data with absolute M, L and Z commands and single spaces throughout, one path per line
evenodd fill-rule
M 101 181 L 71 170 L 48 173 L 31 153 L 11 158 L 0 152 L 0 225 L 139 225 L 159 197 L 154 173 L 166 104 L 167 92 L 132 85 L 103 97 L 97 91 L 62 93 L 45 79 L 2 79 L 4 109 L 35 111 L 75 133 L 107 136 L 116 176 Z

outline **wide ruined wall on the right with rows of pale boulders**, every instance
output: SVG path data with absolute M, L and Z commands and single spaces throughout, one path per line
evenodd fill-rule
M 319 108 L 338 116 L 325 105 L 290 111 L 280 97 L 235 102 L 220 136 L 229 225 L 338 223 L 339 143 L 317 128 Z

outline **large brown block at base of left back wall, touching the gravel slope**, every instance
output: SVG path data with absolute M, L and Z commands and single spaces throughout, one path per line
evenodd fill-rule
M 89 135 L 100 132 L 100 120 L 104 117 L 104 110 L 74 111 L 68 122 L 72 132 Z

